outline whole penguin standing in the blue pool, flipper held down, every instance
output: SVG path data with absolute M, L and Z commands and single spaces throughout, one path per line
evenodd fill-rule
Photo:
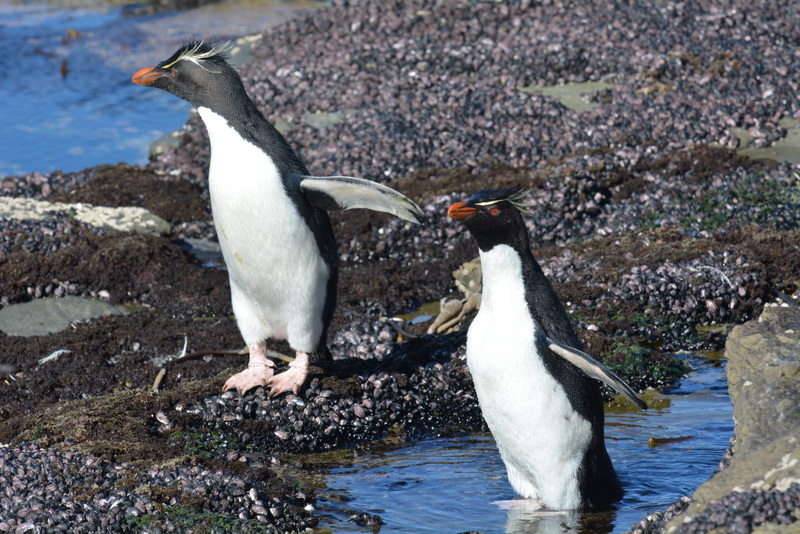
M 647 405 L 581 350 L 531 254 L 521 215 L 525 193 L 479 191 L 448 209 L 478 242 L 483 273 L 467 366 L 514 490 L 551 510 L 607 509 L 623 491 L 606 451 L 603 399 L 593 379 Z

